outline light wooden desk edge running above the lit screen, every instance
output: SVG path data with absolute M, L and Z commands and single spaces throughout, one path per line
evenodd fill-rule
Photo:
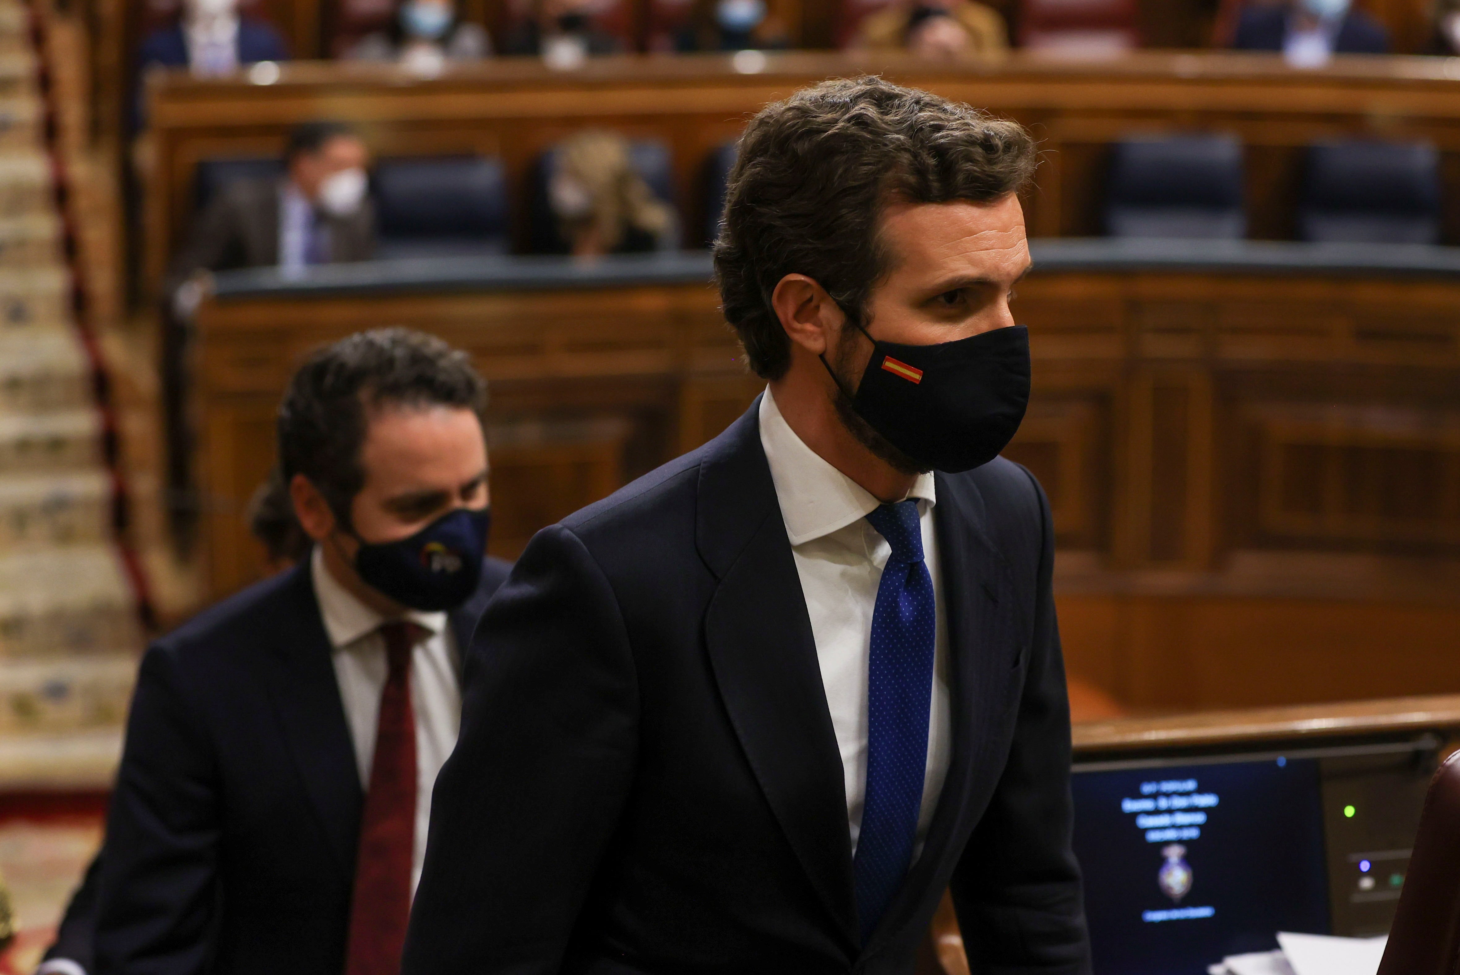
M 1082 753 L 1096 752 L 1200 747 L 1441 727 L 1460 727 L 1460 695 L 1088 721 L 1076 724 L 1072 731 L 1075 753 L 1079 758 Z

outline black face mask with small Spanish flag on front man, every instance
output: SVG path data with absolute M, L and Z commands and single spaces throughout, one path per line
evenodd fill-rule
M 931 346 L 879 342 L 857 328 L 873 349 L 861 385 L 850 396 L 851 409 L 918 467 L 972 470 L 1013 439 L 1029 406 L 1028 328 L 1010 325 Z

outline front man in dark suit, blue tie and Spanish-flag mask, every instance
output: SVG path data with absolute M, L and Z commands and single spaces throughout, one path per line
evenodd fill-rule
M 715 267 L 769 382 L 539 533 L 467 661 L 406 975 L 1089 969 L 1018 124 L 880 79 L 765 108 Z

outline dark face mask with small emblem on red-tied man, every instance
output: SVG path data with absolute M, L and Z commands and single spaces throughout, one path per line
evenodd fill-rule
M 426 613 L 456 609 L 476 593 L 482 579 L 491 527 L 491 508 L 457 508 L 407 539 L 361 540 L 355 571 L 402 606 Z

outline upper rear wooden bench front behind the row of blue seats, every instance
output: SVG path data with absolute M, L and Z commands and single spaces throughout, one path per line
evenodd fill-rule
M 390 66 L 286 66 L 274 85 L 174 74 L 153 89 L 146 180 L 145 279 L 159 280 L 191 219 L 193 169 L 209 156 L 277 152 L 288 128 L 349 120 L 381 155 L 474 152 L 507 163 L 517 241 L 526 244 L 529 169 L 546 146 L 585 126 L 669 143 L 686 228 L 704 226 L 702 166 L 745 120 L 828 76 L 879 72 L 1029 126 L 1042 142 L 1028 220 L 1037 236 L 1099 231 L 1108 144 L 1140 131 L 1231 131 L 1247 144 L 1251 235 L 1291 236 L 1304 146 L 1361 136 L 1426 139 L 1460 174 L 1460 70 L 1437 58 L 1337 58 L 1291 72 L 1275 55 L 1139 54 L 1060 61 L 927 63 L 901 55 L 772 54 L 742 74 L 723 55 L 602 58 L 574 73 L 527 58 L 460 66 L 423 80 Z M 1460 182 L 1445 197 L 1445 238 L 1460 242 Z M 1152 307 L 1150 342 L 1180 323 L 1184 299 Z M 1080 317 L 1070 328 L 1079 328 Z M 1165 324 L 1162 324 L 1165 323 Z M 1094 336 L 1086 336 L 1092 339 Z

